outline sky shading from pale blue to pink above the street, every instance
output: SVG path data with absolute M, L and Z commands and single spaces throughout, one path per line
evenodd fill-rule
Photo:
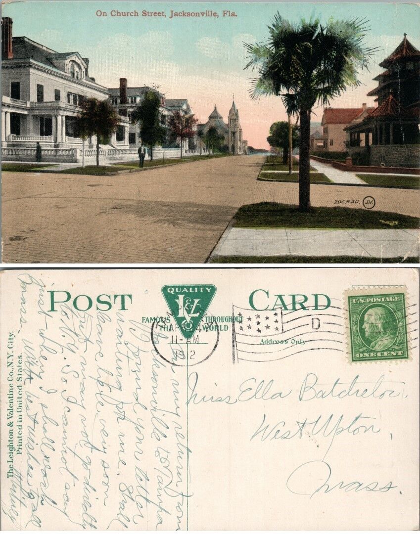
M 166 18 L 111 17 L 111 10 L 165 11 Z M 173 18 L 170 10 L 219 13 L 219 18 Z M 237 17 L 222 17 L 223 9 Z M 97 17 L 96 11 L 108 12 Z M 370 73 L 361 73 L 363 87 L 349 91 L 332 106 L 373 105 L 365 97 L 376 86 L 372 77 L 382 69 L 380 60 L 403 37 L 420 48 L 420 8 L 414 4 L 383 3 L 160 3 L 160 2 L 14 2 L 3 5 L 2 14 L 13 19 L 13 35 L 26 35 L 59 52 L 79 51 L 90 59 L 90 75 L 106 87 L 117 87 L 120 77 L 129 85 L 159 84 L 168 98 L 188 98 L 200 121 L 214 104 L 227 119 L 232 93 L 239 107 L 244 138 L 251 145 L 266 146 L 269 125 L 282 120 L 278 98 L 260 103 L 248 96 L 252 74 L 244 71 L 243 42 L 267 38 L 267 25 L 276 11 L 291 21 L 311 15 L 327 21 L 366 18 L 368 44 L 382 50 L 372 60 Z M 313 120 L 320 120 L 320 116 Z

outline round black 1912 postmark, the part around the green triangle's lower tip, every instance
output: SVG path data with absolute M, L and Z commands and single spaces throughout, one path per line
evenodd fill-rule
M 160 358 L 170 365 L 192 367 L 205 362 L 212 356 L 220 339 L 220 328 L 216 321 L 200 325 L 197 335 L 194 334 L 187 341 L 181 338 L 182 334 L 177 331 L 172 315 L 168 313 L 168 317 L 170 318 L 169 324 L 172 324 L 170 332 L 159 332 L 157 319 L 153 321 L 150 330 L 153 348 Z M 167 327 L 169 328 L 168 325 Z

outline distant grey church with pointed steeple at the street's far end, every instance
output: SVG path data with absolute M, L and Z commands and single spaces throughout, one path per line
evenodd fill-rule
M 205 124 L 198 124 L 198 129 L 204 134 L 209 128 L 216 128 L 216 130 L 224 136 L 224 144 L 228 147 L 231 154 L 246 154 L 248 150 L 248 142 L 242 137 L 242 127 L 239 122 L 239 111 L 236 107 L 235 100 L 228 115 L 228 122 L 223 121 L 222 115 L 214 106 L 213 112 L 208 116 L 208 121 Z

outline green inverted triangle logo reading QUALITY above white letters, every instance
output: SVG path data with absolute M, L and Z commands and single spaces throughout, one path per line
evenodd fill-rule
M 190 339 L 213 300 L 216 286 L 173 284 L 162 287 L 162 293 L 185 339 Z

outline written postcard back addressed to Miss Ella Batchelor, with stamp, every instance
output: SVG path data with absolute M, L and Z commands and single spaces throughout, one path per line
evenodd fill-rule
M 418 271 L 0 276 L 3 530 L 415 530 Z

